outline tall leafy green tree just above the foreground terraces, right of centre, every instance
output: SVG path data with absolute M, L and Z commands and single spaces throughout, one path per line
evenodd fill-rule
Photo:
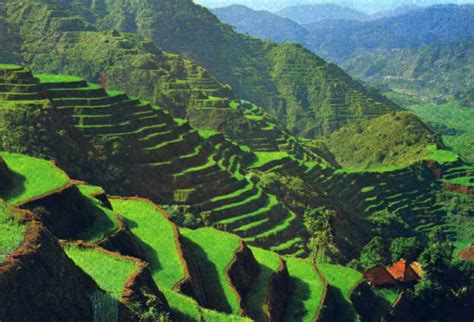
M 304 225 L 310 238 L 308 248 L 311 250 L 313 262 L 316 262 L 321 251 L 334 245 L 330 220 L 336 215 L 333 210 L 324 207 L 309 209 L 304 214 Z

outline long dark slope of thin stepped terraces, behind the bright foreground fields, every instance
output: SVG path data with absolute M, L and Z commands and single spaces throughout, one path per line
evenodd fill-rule
M 135 191 L 158 202 L 192 206 L 196 215 L 204 214 L 251 244 L 277 247 L 285 254 L 299 249 L 295 244 L 285 248 L 281 242 L 299 229 L 294 214 L 247 178 L 245 165 L 252 156 L 238 146 L 225 139 L 213 146 L 189 123 L 175 121 L 160 107 L 106 92 L 78 77 L 34 78 L 16 67 L 2 70 L 0 81 L 8 89 L 3 98 L 9 102 L 20 99 L 13 95 L 17 87 L 10 84 L 21 84 L 28 89 L 22 94 L 29 93 L 22 101 L 48 99 L 85 137 L 127 142 L 135 164 L 130 171 L 143 178 L 134 183 Z

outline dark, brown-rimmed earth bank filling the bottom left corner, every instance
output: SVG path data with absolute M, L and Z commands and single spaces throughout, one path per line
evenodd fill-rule
M 95 282 L 38 221 L 0 264 L 0 321 L 92 321 Z

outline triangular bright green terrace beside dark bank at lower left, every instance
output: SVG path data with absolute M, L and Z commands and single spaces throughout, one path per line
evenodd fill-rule
M 120 301 L 125 282 L 138 268 L 137 264 L 98 249 L 68 245 L 67 255 L 97 282 L 100 288 Z

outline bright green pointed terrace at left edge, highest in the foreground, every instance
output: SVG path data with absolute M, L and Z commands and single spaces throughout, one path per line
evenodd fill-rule
M 1 152 L 0 156 L 14 173 L 13 188 L 4 196 L 9 204 L 20 204 L 53 192 L 69 182 L 66 174 L 51 162 L 7 152 Z

